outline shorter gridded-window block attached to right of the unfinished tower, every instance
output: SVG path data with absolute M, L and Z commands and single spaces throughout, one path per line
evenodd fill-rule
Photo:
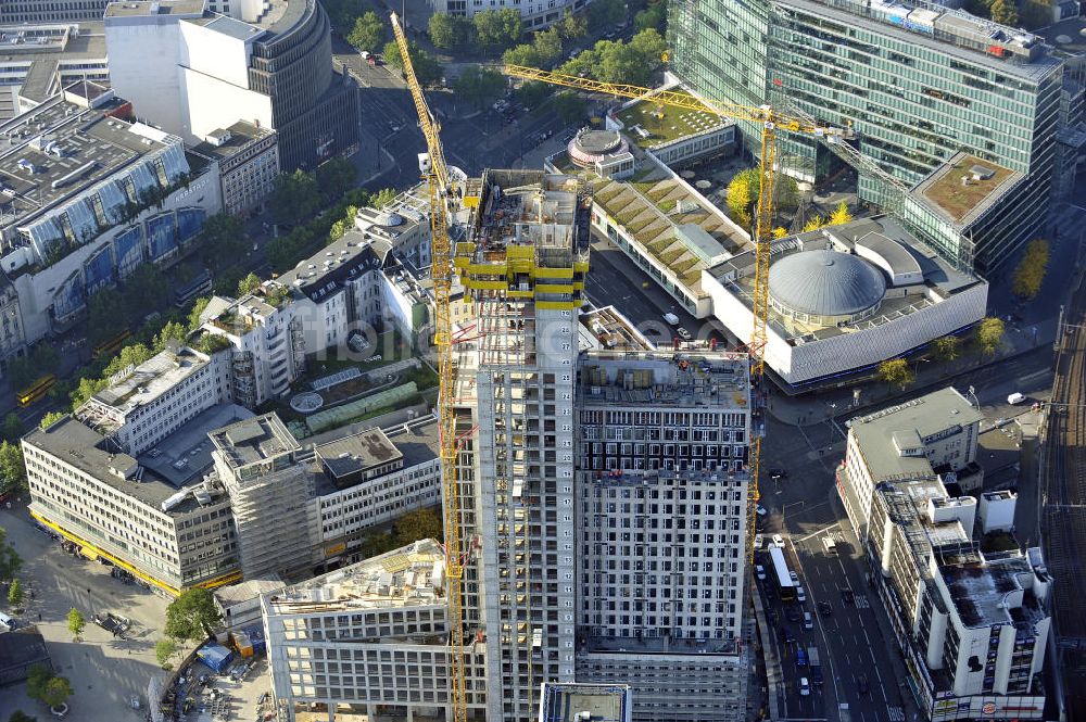
M 579 378 L 577 680 L 628 683 L 634 720 L 743 720 L 748 358 L 592 352 Z

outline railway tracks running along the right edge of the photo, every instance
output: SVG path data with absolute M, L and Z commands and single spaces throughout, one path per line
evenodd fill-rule
M 1048 415 L 1041 533 L 1053 578 L 1052 618 L 1068 719 L 1086 720 L 1086 284 L 1079 283 L 1056 359 Z

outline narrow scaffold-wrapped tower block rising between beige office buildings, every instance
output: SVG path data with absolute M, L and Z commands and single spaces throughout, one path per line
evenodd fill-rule
M 215 471 L 230 497 L 245 575 L 304 573 L 315 542 L 307 514 L 315 487 L 300 458 L 301 445 L 275 414 L 209 435 Z

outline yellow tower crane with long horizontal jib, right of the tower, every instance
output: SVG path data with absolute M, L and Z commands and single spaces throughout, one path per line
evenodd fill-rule
M 704 111 L 706 107 L 719 115 L 737 121 L 753 121 L 761 125 L 761 163 L 758 167 L 760 188 L 758 206 L 755 216 L 755 276 L 754 303 L 752 314 L 754 324 L 750 331 L 750 365 L 752 379 L 760 382 L 766 370 L 766 321 L 769 317 L 769 249 L 773 221 L 773 177 L 776 164 L 776 134 L 800 132 L 823 139 L 828 143 L 841 143 L 848 136 L 847 130 L 819 125 L 811 118 L 798 114 L 790 114 L 774 110 L 769 105 L 752 107 L 736 105 L 720 100 L 697 99 L 685 92 L 673 90 L 653 90 L 637 86 L 616 83 L 603 83 L 592 78 L 582 78 L 564 73 L 541 71 L 522 65 L 506 65 L 505 74 L 535 80 L 548 85 L 564 86 L 577 90 L 602 92 L 619 98 L 643 98 L 647 102 L 672 107 L 684 107 L 692 111 Z M 754 559 L 755 510 L 758 506 L 758 474 L 761 470 L 761 435 L 754 435 L 750 448 L 750 493 L 747 498 L 747 547 L 750 559 Z

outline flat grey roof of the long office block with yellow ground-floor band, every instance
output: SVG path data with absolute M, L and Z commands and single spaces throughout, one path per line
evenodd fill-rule
M 202 435 L 206 443 L 209 427 L 212 423 L 220 423 L 224 415 L 237 418 L 249 413 L 240 406 L 227 404 L 210 408 L 182 426 L 171 436 L 171 441 L 177 444 L 176 448 L 171 446 L 167 452 L 162 448 L 164 445 L 160 445 L 162 457 L 190 459 L 186 465 L 187 469 L 184 471 L 179 469 L 177 474 L 169 476 L 156 471 L 162 466 L 160 459 L 165 461 L 165 458 L 153 455 L 154 449 L 141 455 L 139 459 L 128 454 L 116 453 L 103 434 L 71 416 L 65 416 L 48 429 L 35 428 L 25 440 L 28 444 L 52 454 L 99 482 L 162 514 L 163 502 L 179 491 L 200 485 L 203 474 L 212 468 L 210 458 L 201 457 L 199 454 L 195 456 L 188 454 L 188 451 L 194 448 L 188 446 L 191 440 Z M 185 474 L 184 479 L 179 477 L 181 473 Z M 222 501 L 220 495 L 213 496 L 214 503 L 219 501 Z M 199 502 L 190 494 L 165 514 L 178 516 L 198 508 L 200 508 Z

